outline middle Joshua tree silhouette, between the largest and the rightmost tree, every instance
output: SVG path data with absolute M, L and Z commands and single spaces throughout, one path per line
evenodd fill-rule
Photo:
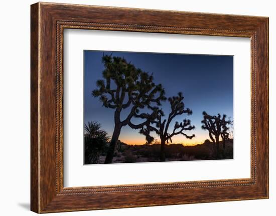
M 173 136 L 182 134 L 188 139 L 192 139 L 193 137 L 195 137 L 195 134 L 189 136 L 185 133 L 186 130 L 195 129 L 195 126 L 192 126 L 191 121 L 187 119 L 184 119 L 181 123 L 175 122 L 173 132 L 168 132 L 169 126 L 176 116 L 182 115 L 184 113 L 187 113 L 188 115 L 192 114 L 192 110 L 190 110 L 189 108 L 185 109 L 183 99 L 184 97 L 181 92 L 178 93 L 178 96 L 168 98 L 168 101 L 171 104 L 171 112 L 168 116 L 168 119 L 162 120 L 162 116 L 164 116 L 164 113 L 160 111 L 155 121 L 148 122 L 148 124 L 146 124 L 145 127 L 140 130 L 140 133 L 146 136 L 146 140 L 148 143 L 152 143 L 154 141 L 154 137 L 150 135 L 152 131 L 155 131 L 159 135 L 161 140 L 160 161 L 165 161 L 165 145 L 166 143 L 169 143 L 169 141 L 172 142 Z M 153 124 L 155 124 L 155 126 L 153 126 Z

